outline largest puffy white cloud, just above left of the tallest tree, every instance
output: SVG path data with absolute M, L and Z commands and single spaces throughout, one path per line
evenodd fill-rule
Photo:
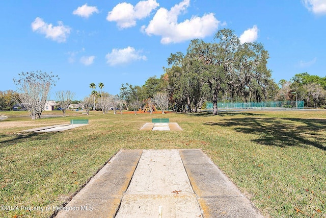
M 165 8 L 158 9 L 149 25 L 143 26 L 142 30 L 147 35 L 161 36 L 163 44 L 204 38 L 213 34 L 220 23 L 213 13 L 205 14 L 202 17 L 193 16 L 191 19 L 178 23 L 178 15 L 187 9 L 189 3 L 190 0 L 184 0 L 173 6 L 170 11 Z

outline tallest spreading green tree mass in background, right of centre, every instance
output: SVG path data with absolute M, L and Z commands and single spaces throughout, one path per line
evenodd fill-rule
M 268 58 L 263 44 L 242 44 L 232 30 L 223 29 L 212 43 L 195 39 L 186 54 L 171 54 L 160 79 L 149 78 L 142 87 L 122 85 L 120 93 L 128 101 L 166 91 L 175 111 L 197 112 L 211 101 L 213 114 L 218 114 L 219 100 L 263 101 L 276 94 L 278 86 L 266 66 Z

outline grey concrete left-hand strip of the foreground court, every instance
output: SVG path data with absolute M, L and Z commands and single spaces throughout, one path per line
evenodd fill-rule
M 142 150 L 118 152 L 56 217 L 114 217 Z M 76 209 L 77 208 L 77 209 Z

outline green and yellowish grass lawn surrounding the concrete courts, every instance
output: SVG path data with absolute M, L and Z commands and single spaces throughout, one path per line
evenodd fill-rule
M 0 202 L 19 208 L 0 217 L 51 216 L 20 208 L 61 206 L 120 149 L 202 149 L 264 216 L 326 217 L 326 111 L 67 115 L 0 121 Z M 139 131 L 161 117 L 183 131 Z M 19 132 L 71 118 L 90 125 Z

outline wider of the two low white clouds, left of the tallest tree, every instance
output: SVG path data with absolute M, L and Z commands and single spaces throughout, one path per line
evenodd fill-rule
M 129 63 L 134 60 L 147 60 L 146 56 L 141 55 L 142 51 L 135 50 L 133 47 L 125 49 L 113 49 L 111 53 L 105 56 L 106 62 L 111 66 Z

